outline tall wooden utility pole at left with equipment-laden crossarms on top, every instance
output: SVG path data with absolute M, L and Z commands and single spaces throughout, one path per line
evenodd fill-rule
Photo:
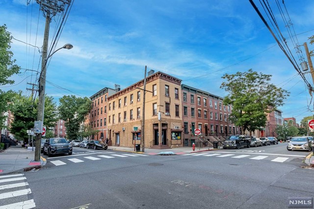
M 40 133 L 36 134 L 35 141 L 35 161 L 40 161 L 40 141 L 43 131 L 44 123 L 44 109 L 45 109 L 45 87 L 46 87 L 46 70 L 47 70 L 47 52 L 48 52 L 48 41 L 49 41 L 49 27 L 52 16 L 59 12 L 64 11 L 65 4 L 70 4 L 71 0 L 36 0 L 40 5 L 41 10 L 46 16 L 45 32 L 44 32 L 44 42 L 43 42 L 43 52 L 42 52 L 42 63 L 41 72 L 38 82 L 38 108 L 37 108 L 37 121 L 41 123 Z M 46 14 L 45 14 L 46 12 Z

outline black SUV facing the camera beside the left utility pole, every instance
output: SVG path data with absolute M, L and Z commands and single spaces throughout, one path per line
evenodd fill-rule
M 72 145 L 64 138 L 47 139 L 44 143 L 44 155 L 51 157 L 55 154 L 69 154 L 72 155 Z

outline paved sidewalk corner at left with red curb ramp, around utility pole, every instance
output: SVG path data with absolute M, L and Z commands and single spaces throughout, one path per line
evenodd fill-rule
M 10 146 L 0 152 L 0 175 L 40 168 L 46 164 L 46 159 L 35 162 L 34 157 L 35 151 L 27 150 L 22 145 Z

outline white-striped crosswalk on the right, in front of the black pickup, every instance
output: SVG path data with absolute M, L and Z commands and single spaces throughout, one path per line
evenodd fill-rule
M 248 158 L 250 160 L 270 160 L 271 162 L 278 162 L 278 163 L 284 163 L 286 162 L 289 158 L 287 157 L 276 157 L 274 155 L 267 156 L 267 155 L 240 155 L 240 153 L 235 153 L 235 154 L 226 154 L 226 153 L 210 153 L 210 152 L 204 152 L 204 153 L 189 153 L 189 154 L 184 154 L 183 156 L 202 156 L 202 157 L 219 157 L 219 158 L 225 158 L 225 157 L 231 157 L 231 158 Z

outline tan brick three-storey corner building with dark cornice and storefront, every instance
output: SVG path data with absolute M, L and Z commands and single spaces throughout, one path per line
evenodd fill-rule
M 146 77 L 145 147 L 182 146 L 181 81 L 151 70 Z M 112 145 L 142 144 L 144 79 L 108 96 L 108 139 Z M 158 116 L 159 115 L 159 116 Z M 159 137 L 159 131 L 162 133 Z

